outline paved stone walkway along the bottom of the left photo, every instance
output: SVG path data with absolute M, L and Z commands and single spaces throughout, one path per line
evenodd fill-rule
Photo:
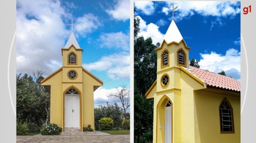
M 17 136 L 17 143 L 130 143 L 130 135 Z

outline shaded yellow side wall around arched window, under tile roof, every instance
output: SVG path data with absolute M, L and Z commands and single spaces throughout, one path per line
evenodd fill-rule
M 219 106 L 224 98 L 233 107 L 235 133 L 220 133 Z M 194 104 L 196 143 L 240 143 L 240 98 L 195 91 Z

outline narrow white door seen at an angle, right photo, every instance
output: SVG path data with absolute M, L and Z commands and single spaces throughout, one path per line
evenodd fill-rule
M 165 108 L 165 143 L 172 143 L 172 106 Z

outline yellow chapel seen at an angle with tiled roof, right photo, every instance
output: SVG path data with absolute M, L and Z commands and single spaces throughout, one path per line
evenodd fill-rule
M 145 94 L 154 98 L 153 143 L 240 143 L 240 82 L 189 66 L 190 49 L 172 20 Z

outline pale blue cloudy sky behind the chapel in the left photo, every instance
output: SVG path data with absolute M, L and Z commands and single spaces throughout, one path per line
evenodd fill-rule
M 130 87 L 130 2 L 127 0 L 17 0 L 17 74 L 39 70 L 46 76 L 62 66 L 61 48 L 73 33 L 83 67 L 104 82 L 94 104 L 118 102 L 106 94 Z

